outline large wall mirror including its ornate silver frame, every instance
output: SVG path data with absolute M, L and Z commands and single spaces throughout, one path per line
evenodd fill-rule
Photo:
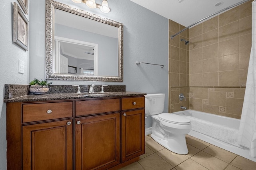
M 46 79 L 123 81 L 123 24 L 46 0 Z

